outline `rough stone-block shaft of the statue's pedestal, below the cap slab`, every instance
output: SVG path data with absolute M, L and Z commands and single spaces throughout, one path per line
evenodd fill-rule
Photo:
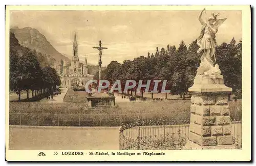
M 227 93 L 193 93 L 189 141 L 200 146 L 232 144 Z

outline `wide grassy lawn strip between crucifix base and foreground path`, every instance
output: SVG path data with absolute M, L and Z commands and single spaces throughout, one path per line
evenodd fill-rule
M 242 102 L 230 101 L 231 120 L 241 120 Z M 22 114 L 19 114 L 22 113 Z M 140 119 L 190 118 L 189 100 L 123 102 L 118 108 L 90 109 L 86 103 L 11 102 L 11 125 L 119 126 Z

